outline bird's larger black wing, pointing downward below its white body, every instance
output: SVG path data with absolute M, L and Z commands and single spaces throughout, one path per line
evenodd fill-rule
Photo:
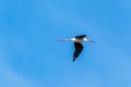
M 80 42 L 74 42 L 74 48 L 75 48 L 75 51 L 74 51 L 74 54 L 73 54 L 73 61 L 75 61 L 75 59 L 80 55 L 80 53 L 82 52 L 83 50 L 83 46 L 82 44 Z

